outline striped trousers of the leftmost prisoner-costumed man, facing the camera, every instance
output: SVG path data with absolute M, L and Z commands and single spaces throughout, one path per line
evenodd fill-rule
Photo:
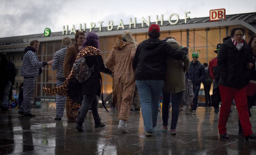
M 36 78 L 23 80 L 23 102 L 20 105 L 19 112 L 24 114 L 31 113 L 31 101 L 35 92 Z

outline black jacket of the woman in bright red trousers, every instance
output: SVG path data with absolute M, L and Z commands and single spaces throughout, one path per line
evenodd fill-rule
M 243 88 L 249 82 L 250 62 L 249 47 L 244 42 L 238 51 L 230 37 L 223 39 L 224 43 L 218 52 L 218 68 L 220 71 L 220 84 L 231 88 Z

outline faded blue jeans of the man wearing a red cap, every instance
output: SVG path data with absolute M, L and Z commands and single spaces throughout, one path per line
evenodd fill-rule
M 145 131 L 153 132 L 157 122 L 158 102 L 164 80 L 136 80 Z

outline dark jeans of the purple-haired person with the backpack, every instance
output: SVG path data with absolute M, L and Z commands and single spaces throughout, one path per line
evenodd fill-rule
M 101 123 L 99 112 L 98 112 L 97 96 L 96 95 L 86 95 L 86 96 L 83 96 L 83 99 L 84 99 L 84 104 L 83 104 L 81 113 L 78 116 L 77 124 L 80 124 L 80 125 L 83 124 L 84 119 L 87 115 L 87 112 L 90 108 L 90 105 L 92 108 L 92 116 L 94 119 L 94 123 L 95 124 Z

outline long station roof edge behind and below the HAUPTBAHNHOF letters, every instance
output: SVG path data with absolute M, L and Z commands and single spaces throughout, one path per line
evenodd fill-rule
M 153 24 L 155 22 L 151 22 Z M 243 25 L 249 28 L 252 32 L 256 33 L 256 12 L 253 13 L 245 13 L 245 14 L 231 14 L 226 15 L 226 19 L 224 21 L 211 22 L 209 17 L 202 18 L 190 18 L 187 19 L 187 23 L 185 24 L 184 19 L 180 19 L 176 25 L 171 25 L 169 21 L 164 21 L 163 26 L 160 27 L 161 31 L 166 30 L 180 30 L 180 29 L 190 29 L 190 28 L 201 28 L 201 27 L 215 27 L 215 26 L 228 26 L 228 25 Z M 146 25 L 147 26 L 147 25 Z M 124 25 L 125 30 L 130 30 L 132 33 L 140 33 L 147 32 L 148 27 L 141 27 L 141 23 L 136 24 L 136 28 L 129 29 L 129 25 Z M 107 36 L 107 35 L 118 35 L 122 34 L 125 30 L 116 30 L 117 26 L 113 26 L 112 31 L 107 31 L 107 27 L 102 27 L 101 32 L 99 32 L 99 28 L 92 29 L 92 32 L 97 33 L 99 36 Z M 69 31 L 70 32 L 70 31 Z M 68 34 L 69 34 L 68 32 Z M 89 29 L 86 29 L 86 32 L 89 32 Z M 6 37 L 0 38 L 0 47 L 2 45 L 11 45 L 11 44 L 22 44 L 29 43 L 32 39 L 37 39 L 39 41 L 52 41 L 52 40 L 61 40 L 62 37 L 70 37 L 74 38 L 75 35 L 62 35 L 61 32 L 52 32 L 49 37 L 45 37 L 42 34 L 35 35 L 23 35 L 23 36 L 15 36 L 15 37 Z

